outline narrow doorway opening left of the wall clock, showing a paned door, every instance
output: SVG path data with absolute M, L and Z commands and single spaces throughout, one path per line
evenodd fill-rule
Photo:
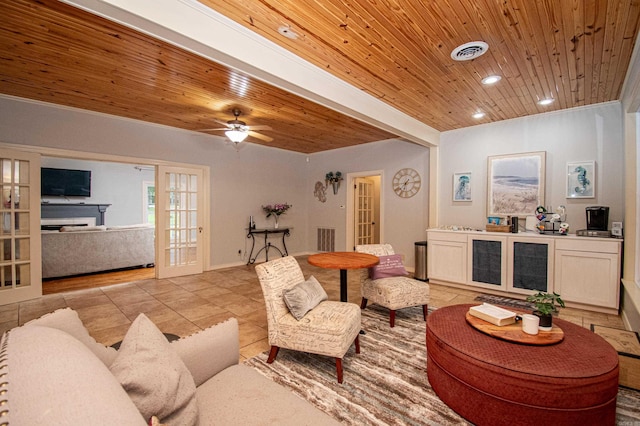
M 382 174 L 376 170 L 347 175 L 347 250 L 384 240 Z

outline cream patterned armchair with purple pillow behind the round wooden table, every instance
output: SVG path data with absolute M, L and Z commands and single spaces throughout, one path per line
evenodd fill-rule
M 389 324 L 394 327 L 396 310 L 422 305 L 422 316 L 427 320 L 429 285 L 406 276 L 402 257 L 394 253 L 390 244 L 359 245 L 356 251 L 380 258 L 378 265 L 361 272 L 361 309 L 367 307 L 368 301 L 388 308 Z

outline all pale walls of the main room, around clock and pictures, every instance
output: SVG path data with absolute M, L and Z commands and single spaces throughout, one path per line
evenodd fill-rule
M 254 144 L 236 151 L 222 138 L 90 112 L 0 97 L 0 142 L 44 146 L 204 165 L 211 173 L 211 258 L 214 267 L 243 263 L 238 250 L 249 240 L 245 228 L 253 215 L 257 225 L 272 222 L 261 206 L 288 202 L 281 216 L 293 227 L 287 247 L 292 254 L 314 251 L 316 228 L 337 230 L 337 250 L 347 249 L 346 185 L 327 202 L 313 195 L 315 182 L 329 171 L 349 173 L 382 170 L 384 209 L 382 242 L 393 244 L 414 264 L 414 243 L 426 239 L 428 224 L 429 149 L 399 140 L 304 155 Z M 446 132 L 440 146 L 439 217 L 441 224 L 484 228 L 486 158 L 517 152 L 547 152 L 546 204 L 568 207 L 572 229 L 585 227 L 584 207 L 608 205 L 610 220 L 624 211 L 622 123 L 618 103 L 573 109 Z M 308 159 L 308 161 L 307 161 Z M 591 200 L 564 198 L 567 161 L 595 160 L 597 194 Z M 391 179 L 401 168 L 420 172 L 422 189 L 413 198 L 395 195 Z M 474 173 L 473 202 L 453 205 L 454 172 Z

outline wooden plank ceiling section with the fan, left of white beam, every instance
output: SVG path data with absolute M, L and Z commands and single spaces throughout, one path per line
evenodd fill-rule
M 0 16 L 0 93 L 188 130 L 239 108 L 273 129 L 247 142 L 303 153 L 394 137 L 64 3 L 2 1 Z

